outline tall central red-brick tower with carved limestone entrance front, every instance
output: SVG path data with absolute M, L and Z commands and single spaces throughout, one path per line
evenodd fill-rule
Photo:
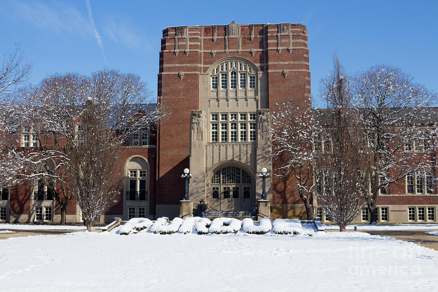
M 165 28 L 158 102 L 170 116 L 158 125 L 157 215 L 178 215 L 186 167 L 193 175 L 192 201 L 206 199 L 209 209 L 253 208 L 260 198 L 257 173 L 261 167 L 275 172 L 263 131 L 276 104 L 291 99 L 310 106 L 304 25 L 232 21 Z M 302 208 L 296 195 L 281 194 L 272 183 L 274 217 Z

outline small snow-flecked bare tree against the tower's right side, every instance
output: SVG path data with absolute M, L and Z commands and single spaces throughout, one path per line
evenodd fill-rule
M 279 105 L 272 114 L 273 157 L 278 161 L 276 176 L 295 186 L 306 208 L 308 220 L 313 219 L 312 194 L 316 185 L 313 179 L 316 159 L 317 127 L 313 110 L 304 110 L 297 102 Z M 292 178 L 291 178 L 292 177 Z

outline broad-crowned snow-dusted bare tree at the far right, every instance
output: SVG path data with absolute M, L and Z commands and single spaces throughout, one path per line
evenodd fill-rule
M 397 68 L 376 66 L 356 77 L 356 106 L 361 108 L 370 191 L 366 194 L 370 223 L 380 193 L 408 174 L 430 168 L 435 151 L 436 125 L 425 109 L 436 94 L 415 84 Z M 432 172 L 431 172 L 432 173 Z M 433 171 L 435 173 L 435 171 Z

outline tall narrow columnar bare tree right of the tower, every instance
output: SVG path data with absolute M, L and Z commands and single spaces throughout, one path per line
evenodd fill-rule
M 340 231 L 345 231 L 364 205 L 366 164 L 361 154 L 357 112 L 352 108 L 350 78 L 336 57 L 333 67 L 332 74 L 322 82 L 328 109 L 320 121 L 325 121 L 321 126 L 327 139 L 324 153 L 316 160 L 322 182 L 317 198 Z

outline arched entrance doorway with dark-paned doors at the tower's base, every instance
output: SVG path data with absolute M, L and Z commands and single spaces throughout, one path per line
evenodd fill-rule
M 207 194 L 209 209 L 251 211 L 255 206 L 254 179 L 238 166 L 225 166 L 213 173 Z

